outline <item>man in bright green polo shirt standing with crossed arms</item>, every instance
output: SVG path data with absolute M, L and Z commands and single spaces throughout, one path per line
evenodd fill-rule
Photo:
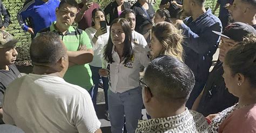
M 91 42 L 87 34 L 82 30 L 72 27 L 78 12 L 78 4 L 73 0 L 62 0 L 56 9 L 57 21 L 50 27 L 44 28 L 37 33 L 56 31 L 68 49 L 69 69 L 64 79 L 66 82 L 78 85 L 90 91 L 93 82 L 89 62 L 93 58 Z

